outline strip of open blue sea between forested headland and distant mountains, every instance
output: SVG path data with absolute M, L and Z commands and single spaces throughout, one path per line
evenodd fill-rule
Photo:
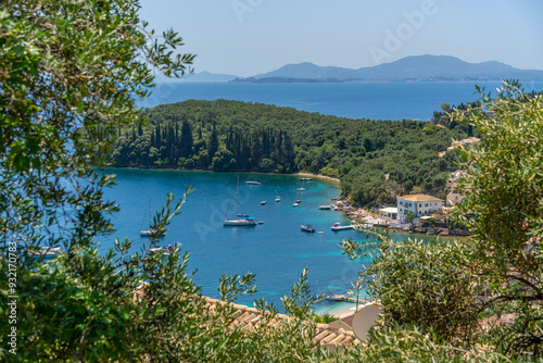
M 157 85 L 143 107 L 189 99 L 228 99 L 290 107 L 351 118 L 430 120 L 442 103 L 475 101 L 475 86 L 494 91 L 501 82 L 365 82 L 338 84 L 167 83 Z M 523 83 L 526 90 L 542 82 Z

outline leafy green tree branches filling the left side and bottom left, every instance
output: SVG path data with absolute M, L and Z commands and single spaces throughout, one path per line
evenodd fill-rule
M 90 170 L 116 130 L 141 120 L 135 99 L 153 68 L 182 75 L 174 33 L 156 37 L 138 1 L 3 1 L 0 10 L 0 355 L 2 362 L 311 361 L 314 324 L 274 330 L 232 327 L 233 309 L 211 311 L 191 279 L 188 254 L 150 252 L 184 198 L 168 196 L 141 251 L 116 240 L 104 254 L 117 206 L 113 179 Z M 110 237 L 108 237 L 110 238 Z M 38 246 L 61 247 L 43 261 Z M 144 283 L 144 284 L 143 284 Z M 314 299 L 302 278 L 286 310 Z M 141 291 L 135 298 L 135 291 Z M 254 276 L 220 281 L 223 300 L 254 291 Z M 277 309 L 270 308 L 276 311 Z M 269 314 L 274 315 L 274 312 Z

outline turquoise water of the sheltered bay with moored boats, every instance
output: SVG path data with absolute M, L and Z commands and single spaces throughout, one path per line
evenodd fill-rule
M 157 210 L 166 192 L 180 197 L 185 186 L 194 188 L 161 245 L 181 242 L 190 252 L 190 267 L 198 268 L 194 280 L 202 285 L 203 293 L 218 297 L 217 286 L 223 274 L 256 274 L 258 293 L 243 297 L 241 303 L 252 303 L 254 298 L 280 303 L 280 297 L 290 292 L 304 267 L 308 267 L 312 291 L 344 293 L 356 278 L 362 264 L 341 254 L 338 242 L 344 238 L 363 239 L 365 234 L 354 230 L 331 231 L 334 222 L 348 224 L 349 220 L 336 211 L 318 210 L 319 204 L 330 204 L 340 195 L 331 182 L 301 182 L 292 175 L 233 174 L 187 171 L 106 170 L 116 174 L 117 186 L 109 189 L 105 198 L 116 200 L 121 211 L 113 222 L 115 236 L 134 239 L 134 250 L 147 242 L 139 236 L 147 228 L 144 216 L 149 200 Z M 264 224 L 252 227 L 224 227 L 223 218 L 240 177 L 239 211 L 251 214 Z M 262 185 L 247 185 L 245 180 Z M 305 191 L 298 191 L 304 187 Z M 281 201 L 275 202 L 276 196 Z M 295 200 L 302 202 L 292 206 Z M 266 205 L 261 201 L 266 200 Z M 236 197 L 229 216 L 236 214 Z M 302 224 L 312 224 L 324 234 L 307 234 Z M 102 238 L 102 249 L 111 247 L 113 236 Z M 326 303 L 324 304 L 326 306 Z

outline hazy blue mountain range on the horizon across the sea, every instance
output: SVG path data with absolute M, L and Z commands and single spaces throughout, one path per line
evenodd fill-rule
M 304 62 L 287 64 L 276 71 L 239 77 L 203 72 L 188 82 L 232 83 L 342 83 L 342 82 L 467 82 L 467 80 L 543 80 L 543 71 L 518 70 L 500 62 L 468 63 L 449 55 L 413 55 L 391 63 L 357 70 L 319 66 Z

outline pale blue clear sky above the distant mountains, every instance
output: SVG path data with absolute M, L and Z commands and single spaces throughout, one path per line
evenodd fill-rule
M 237 76 L 312 62 L 359 68 L 453 55 L 543 70 L 541 0 L 142 0 L 150 27 L 174 28 L 194 71 Z

